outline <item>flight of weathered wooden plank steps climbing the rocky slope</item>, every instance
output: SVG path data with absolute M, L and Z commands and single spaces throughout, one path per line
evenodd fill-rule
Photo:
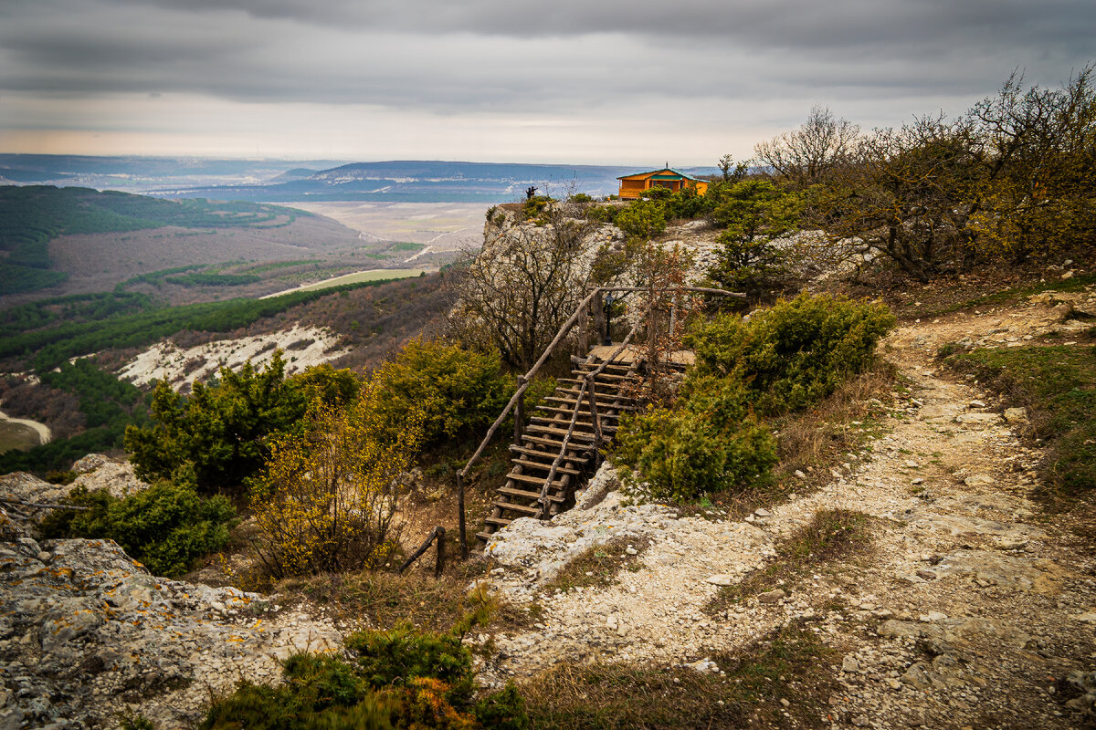
M 629 393 L 639 382 L 639 358 L 606 361 L 592 354 L 571 371 L 572 378 L 557 381 L 521 442 L 510 447 L 513 468 L 477 537 L 487 541 L 521 517 L 544 520 L 571 507 L 575 490 L 601 462 L 598 449 L 613 440 L 620 416 L 635 404 Z

